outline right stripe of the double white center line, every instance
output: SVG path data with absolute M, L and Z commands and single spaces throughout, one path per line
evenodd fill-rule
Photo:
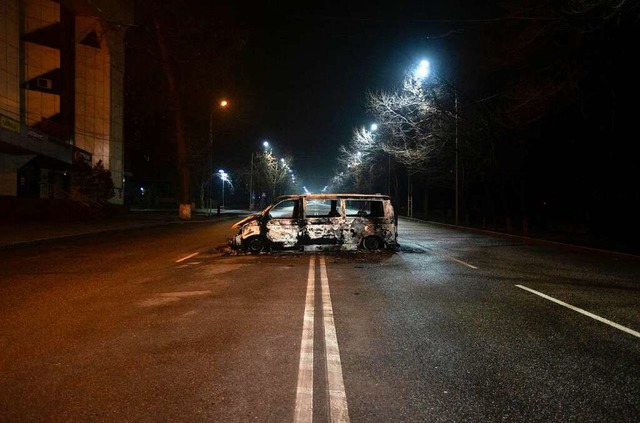
M 331 423 L 348 423 L 349 409 L 347 395 L 342 379 L 342 365 L 340 364 L 340 350 L 333 321 L 333 307 L 329 292 L 329 279 L 324 256 L 320 256 L 320 282 L 322 286 L 322 316 L 324 320 L 324 345 L 327 362 L 327 388 L 329 390 L 329 408 Z

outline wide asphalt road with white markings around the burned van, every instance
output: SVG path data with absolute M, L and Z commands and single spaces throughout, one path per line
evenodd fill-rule
M 640 261 L 400 222 L 228 254 L 230 221 L 0 255 L 2 422 L 636 422 Z

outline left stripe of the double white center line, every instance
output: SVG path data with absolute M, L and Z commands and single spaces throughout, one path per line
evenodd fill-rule
M 296 410 L 294 423 L 313 421 L 313 318 L 315 313 L 316 257 L 309 259 L 307 276 L 307 297 L 304 305 L 302 341 L 300 341 L 300 364 L 298 367 L 298 388 L 296 391 Z

